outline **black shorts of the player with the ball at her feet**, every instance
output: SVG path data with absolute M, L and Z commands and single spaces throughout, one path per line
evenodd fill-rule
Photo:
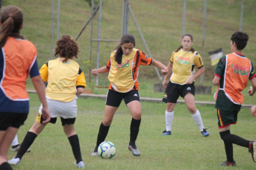
M 140 102 L 139 91 L 133 90 L 133 91 L 129 91 L 127 93 L 119 93 L 117 91 L 108 90 L 106 105 L 110 105 L 113 107 L 119 107 L 120 103 L 122 102 L 122 99 L 125 100 L 125 105 L 127 105 L 129 102 L 134 101 L 134 100 L 137 100 Z

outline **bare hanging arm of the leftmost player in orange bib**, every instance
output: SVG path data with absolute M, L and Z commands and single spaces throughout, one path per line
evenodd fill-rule
M 42 102 L 43 108 L 42 108 L 42 116 L 43 116 L 43 124 L 46 124 L 51 120 L 51 114 L 48 109 L 48 105 L 46 102 L 46 92 L 45 92 L 45 85 L 43 84 L 43 80 L 41 79 L 41 76 L 34 76 L 31 78 L 34 88 L 37 91 L 37 95 L 40 99 L 40 102 Z

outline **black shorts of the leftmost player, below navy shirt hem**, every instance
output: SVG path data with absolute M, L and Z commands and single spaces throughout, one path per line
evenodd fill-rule
M 24 125 L 27 117 L 28 114 L 0 112 L 0 131 L 6 131 L 9 127 L 19 128 Z

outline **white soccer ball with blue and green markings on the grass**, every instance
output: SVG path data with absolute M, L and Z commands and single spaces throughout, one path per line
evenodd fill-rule
M 116 146 L 109 141 L 104 141 L 99 145 L 98 154 L 104 159 L 110 159 L 116 154 Z

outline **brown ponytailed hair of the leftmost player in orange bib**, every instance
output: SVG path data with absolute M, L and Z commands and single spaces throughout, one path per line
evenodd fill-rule
M 19 7 L 8 6 L 1 10 L 0 47 L 4 47 L 8 36 L 24 39 L 19 35 L 23 23 L 23 13 Z

